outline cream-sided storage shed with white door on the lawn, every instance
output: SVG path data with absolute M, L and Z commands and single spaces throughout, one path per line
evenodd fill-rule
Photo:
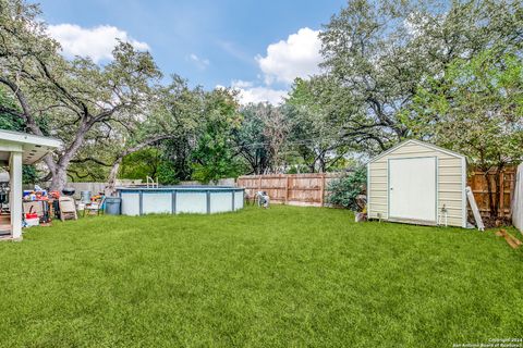
M 465 157 L 406 140 L 367 164 L 369 219 L 466 227 Z

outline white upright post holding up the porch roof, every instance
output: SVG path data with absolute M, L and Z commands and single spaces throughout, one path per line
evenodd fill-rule
M 11 236 L 22 239 L 22 152 L 11 152 L 9 159 Z

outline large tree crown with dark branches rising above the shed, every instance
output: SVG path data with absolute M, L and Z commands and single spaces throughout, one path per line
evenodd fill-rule
M 521 48 L 520 1 L 350 0 L 320 34 L 324 104 L 368 152 L 410 137 L 405 110 L 427 76 L 499 45 Z

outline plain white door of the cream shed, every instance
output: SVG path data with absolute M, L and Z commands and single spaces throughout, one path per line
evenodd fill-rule
M 389 160 L 389 217 L 436 223 L 436 158 Z

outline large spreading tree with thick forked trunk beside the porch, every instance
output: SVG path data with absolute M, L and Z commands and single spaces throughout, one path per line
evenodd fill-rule
M 51 135 L 64 141 L 45 158 L 50 188 L 60 190 L 71 161 L 92 136 L 115 137 L 113 124 L 125 127 L 141 121 L 141 107 L 160 73 L 148 52 L 126 42 L 114 48 L 113 61 L 105 66 L 90 59 L 64 60 L 38 15 L 36 5 L 1 0 L 0 84 L 19 108 L 2 105 L 0 111 L 23 120 L 36 135 L 44 135 L 39 121 L 46 120 Z

